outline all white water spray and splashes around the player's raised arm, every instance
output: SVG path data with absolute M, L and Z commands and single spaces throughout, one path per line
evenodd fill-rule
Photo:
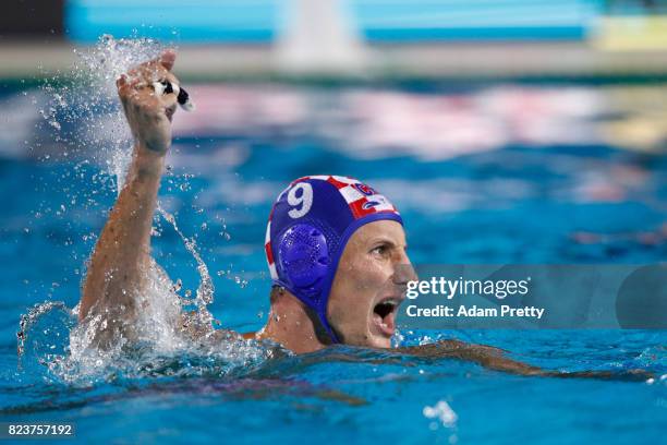
M 108 176 L 94 176 L 93 187 L 113 187 L 120 193 L 131 159 L 132 135 L 118 100 L 116 80 L 134 65 L 156 58 L 163 49 L 150 39 L 102 36 L 95 47 L 78 53 L 80 60 L 71 72 L 49 77 L 41 87 L 48 100 L 39 112 L 60 147 L 53 151 L 53 156 L 76 154 L 85 163 L 106 169 Z M 34 359 L 46 365 L 49 376 L 45 378 L 90 384 L 99 378 L 220 375 L 274 353 L 257 341 L 213 328 L 215 320 L 207 305 L 214 301 L 214 285 L 208 267 L 194 238 L 183 234 L 174 216 L 159 206 L 158 213 L 196 261 L 201 281 L 195 298 L 181 298 L 179 284 L 174 285 L 151 260 L 145 270 L 147 286 L 138 296 L 141 311 L 131 322 L 131 329 L 125 329 L 129 323 L 123 317 L 109 313 L 76 323 L 76 308 L 70 310 L 62 302 L 46 302 L 22 317 L 17 334 L 20 360 Z M 187 306 L 195 306 L 195 311 L 183 312 Z M 66 321 L 46 316 L 58 311 L 66 314 Z M 64 329 L 60 342 L 38 338 L 40 332 L 53 328 Z M 196 333 L 189 328 L 196 328 Z M 98 338 L 102 332 L 112 333 L 112 341 L 105 342 L 104 349 L 99 348 Z M 45 353 L 45 347 L 52 353 Z

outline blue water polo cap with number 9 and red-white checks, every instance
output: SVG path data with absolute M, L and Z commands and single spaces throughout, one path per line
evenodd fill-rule
M 315 311 L 333 342 L 339 340 L 327 321 L 327 303 L 340 256 L 356 229 L 381 219 L 403 224 L 387 197 L 339 176 L 299 178 L 271 208 L 265 250 L 272 284 Z

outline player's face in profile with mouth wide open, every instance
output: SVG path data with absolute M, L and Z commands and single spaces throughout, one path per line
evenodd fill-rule
M 338 265 L 327 318 L 347 345 L 388 348 L 407 282 L 415 279 L 405 232 L 392 220 L 366 224 L 352 234 Z

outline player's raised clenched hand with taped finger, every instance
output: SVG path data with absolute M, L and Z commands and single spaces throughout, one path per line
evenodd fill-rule
M 159 58 L 122 74 L 116 82 L 140 151 L 165 154 L 171 145 L 171 119 L 178 106 L 177 94 L 156 92 L 154 84 L 165 81 L 179 84 L 171 73 L 174 61 L 175 52 L 167 50 Z

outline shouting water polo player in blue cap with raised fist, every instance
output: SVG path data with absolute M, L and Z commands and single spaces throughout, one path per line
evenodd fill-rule
M 179 88 L 171 73 L 175 53 L 163 52 L 117 81 L 134 136 L 123 189 L 88 266 L 78 316 L 99 318 L 100 347 L 116 335 L 131 337 L 150 284 L 150 231 L 157 192 L 171 145 L 171 120 Z M 402 219 L 377 191 L 351 178 L 305 177 L 293 181 L 274 204 L 265 250 L 274 287 L 264 328 L 245 338 L 272 340 L 295 353 L 333 344 L 389 348 L 396 314 L 409 280 Z M 187 330 L 186 314 L 174 321 Z M 193 328 L 194 327 L 194 328 Z M 400 348 L 423 357 L 471 360 L 487 368 L 529 375 L 563 375 L 510 360 L 497 348 L 458 340 Z M 572 376 L 574 374 L 567 374 Z

